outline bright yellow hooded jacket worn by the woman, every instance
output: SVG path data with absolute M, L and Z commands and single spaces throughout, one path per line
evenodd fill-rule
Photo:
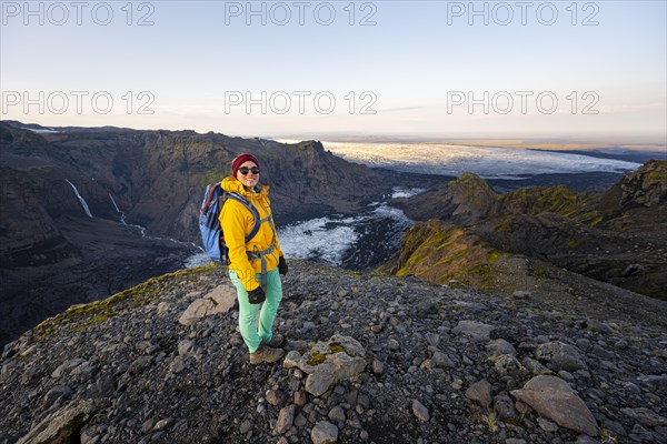
M 239 193 L 257 209 L 260 219 L 267 219 L 271 214 L 271 202 L 269 201 L 269 186 L 256 185 L 255 191 L 247 191 L 241 182 L 232 176 L 225 178 L 220 184 L 222 190 L 231 193 Z M 267 254 L 267 272 L 278 266 L 278 258 L 282 255 L 278 233 L 273 231 L 272 221 L 260 224 L 259 231 L 248 243 L 246 235 L 252 231 L 255 218 L 252 213 L 240 202 L 228 199 L 220 211 L 220 226 L 225 233 L 225 243 L 229 249 L 229 270 L 233 270 L 247 291 L 252 291 L 259 286 L 259 281 L 255 276 L 261 272 L 261 261 L 259 259 L 249 261 L 246 251 L 263 251 L 275 243 L 273 252 Z

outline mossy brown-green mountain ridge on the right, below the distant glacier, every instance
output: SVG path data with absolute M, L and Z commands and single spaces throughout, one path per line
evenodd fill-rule
M 415 273 L 438 283 L 462 279 L 485 291 L 511 294 L 521 281 L 560 274 L 561 268 L 667 299 L 666 161 L 648 161 L 601 195 L 561 185 L 497 194 L 484 179 L 468 173 L 397 205 L 417 221 L 444 224 L 436 229 L 418 222 L 412 230 L 430 234 L 408 232 L 402 251 L 382 266 L 385 272 Z M 450 246 L 452 226 L 460 231 L 457 250 Z M 425 240 L 424 248 L 416 239 Z M 440 241 L 434 244 L 434 239 Z M 471 260 L 469 252 L 480 248 L 486 253 Z M 524 271 L 511 273 L 515 265 L 509 262 L 521 263 L 515 265 Z M 574 274 L 566 281 L 570 279 L 578 281 Z

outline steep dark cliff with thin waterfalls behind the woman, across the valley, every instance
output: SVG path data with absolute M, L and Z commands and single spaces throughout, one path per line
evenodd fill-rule
M 397 182 L 396 175 L 348 163 L 315 141 L 290 145 L 212 132 L 113 128 L 38 134 L 7 122 L 0 122 L 0 139 L 2 165 L 36 183 L 33 191 L 51 218 L 81 212 L 68 179 L 93 215 L 118 219 L 112 196 L 129 220 L 181 240 L 197 239 L 192 214 L 206 184 L 228 175 L 231 159 L 245 151 L 260 159 L 279 223 L 358 210 Z

